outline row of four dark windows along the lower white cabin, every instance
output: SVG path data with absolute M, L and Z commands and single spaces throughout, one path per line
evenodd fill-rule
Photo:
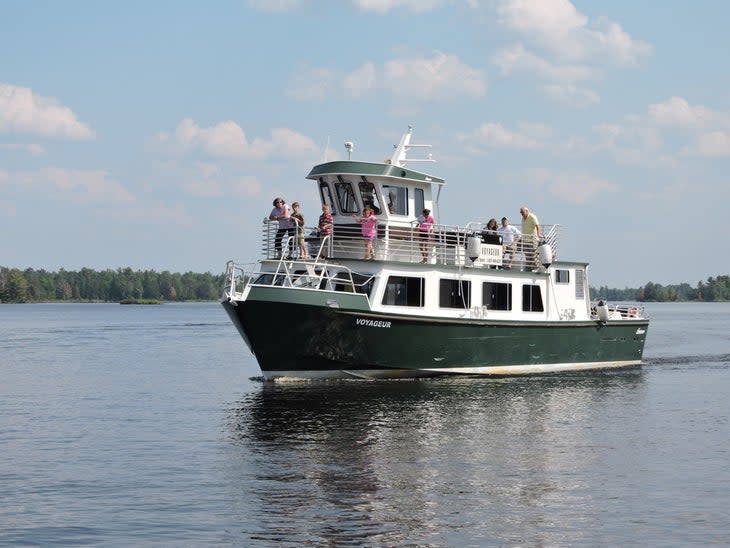
M 412 276 L 390 276 L 385 286 L 383 304 L 396 306 L 424 306 L 425 282 Z M 489 310 L 512 310 L 512 284 L 483 282 L 482 305 Z M 439 280 L 441 308 L 471 308 L 471 282 L 468 280 Z M 522 284 L 522 310 L 543 312 L 542 291 L 539 285 Z

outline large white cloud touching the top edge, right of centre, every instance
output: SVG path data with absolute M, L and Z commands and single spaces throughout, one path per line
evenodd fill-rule
M 605 17 L 589 27 L 587 16 L 569 0 L 503 0 L 500 22 L 561 61 L 609 60 L 636 65 L 652 53 L 650 45 L 632 39 Z

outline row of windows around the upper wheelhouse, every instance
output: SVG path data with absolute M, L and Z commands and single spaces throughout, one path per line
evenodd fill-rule
M 392 215 L 410 215 L 409 189 L 398 185 L 382 185 L 382 201 L 378 196 L 375 185 L 365 177 L 361 177 L 357 184 L 357 191 L 360 193 L 360 202 L 363 207 L 371 207 L 376 215 L 387 208 Z M 322 195 L 322 203 L 332 208 L 332 213 L 338 211 L 343 214 L 359 213 L 360 205 L 355 197 L 356 187 L 350 181 L 337 176 L 334 184 L 335 195 L 332 196 L 331 187 L 324 179 L 320 179 L 319 190 Z M 425 200 L 422 188 L 411 189 L 413 192 L 414 215 L 419 215 L 425 207 Z

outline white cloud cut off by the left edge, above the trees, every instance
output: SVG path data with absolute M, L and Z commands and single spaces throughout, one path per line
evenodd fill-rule
M 3 83 L 0 83 L 0 132 L 76 140 L 94 137 L 88 125 L 53 97 L 42 97 L 30 88 Z

